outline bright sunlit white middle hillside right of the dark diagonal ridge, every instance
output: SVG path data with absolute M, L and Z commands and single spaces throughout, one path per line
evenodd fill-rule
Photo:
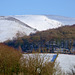
M 19 19 L 20 21 L 39 31 L 58 28 L 62 26 L 62 23 L 56 20 L 48 19 L 44 15 L 18 15 L 13 17 Z

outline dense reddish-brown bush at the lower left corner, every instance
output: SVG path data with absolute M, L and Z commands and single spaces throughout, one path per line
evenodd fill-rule
M 0 75 L 18 74 L 20 71 L 19 60 L 21 53 L 12 47 L 0 44 Z

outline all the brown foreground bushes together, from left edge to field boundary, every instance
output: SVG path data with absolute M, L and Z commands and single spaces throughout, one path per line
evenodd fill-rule
M 0 75 L 53 75 L 57 72 L 55 63 L 48 62 L 50 58 L 44 61 L 45 56 L 23 56 L 20 51 L 0 44 Z

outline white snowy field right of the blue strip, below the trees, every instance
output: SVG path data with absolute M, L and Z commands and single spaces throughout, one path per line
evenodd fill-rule
M 59 54 L 56 61 L 64 72 L 70 72 L 75 66 L 75 55 Z

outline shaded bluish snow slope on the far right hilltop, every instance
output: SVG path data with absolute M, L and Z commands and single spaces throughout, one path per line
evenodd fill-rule
M 64 16 L 56 16 L 56 15 L 45 15 L 49 19 L 53 19 L 61 22 L 63 25 L 73 25 L 75 24 L 75 18 L 64 17 Z

